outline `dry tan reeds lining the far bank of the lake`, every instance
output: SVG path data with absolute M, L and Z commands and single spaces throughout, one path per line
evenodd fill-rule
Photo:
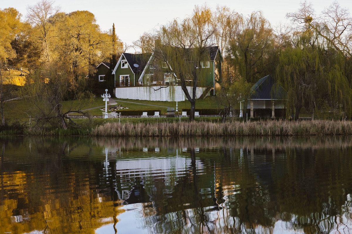
M 92 129 L 96 136 L 294 136 L 350 135 L 351 121 L 250 121 L 250 122 L 109 122 Z

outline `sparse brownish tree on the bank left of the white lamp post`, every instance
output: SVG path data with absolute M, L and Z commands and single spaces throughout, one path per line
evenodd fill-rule
M 27 101 L 31 104 L 27 114 L 32 116 L 37 129 L 47 126 L 79 128 L 81 126 L 68 114 L 79 113 L 91 117 L 86 111 L 82 111 L 94 100 L 92 93 L 83 90 L 85 82 L 84 76 L 76 79 L 68 69 L 48 66 L 27 76 L 26 85 L 18 93 L 20 96 L 27 96 Z M 68 100 L 68 97 L 71 97 L 71 100 L 66 101 L 63 107 L 63 102 Z

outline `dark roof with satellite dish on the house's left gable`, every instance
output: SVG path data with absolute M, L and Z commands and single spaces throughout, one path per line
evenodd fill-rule
M 151 55 L 152 55 L 151 53 L 144 53 L 144 54 L 122 53 L 112 74 L 115 74 L 115 71 L 118 68 L 118 66 L 120 66 L 121 60 L 123 58 L 127 60 L 128 67 L 132 70 L 133 73 L 141 73 L 144 70 Z

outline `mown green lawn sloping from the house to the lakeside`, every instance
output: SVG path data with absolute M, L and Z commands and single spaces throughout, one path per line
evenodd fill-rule
M 117 105 L 128 107 L 129 109 L 132 109 L 132 110 L 142 111 L 147 109 L 161 109 L 161 114 L 166 113 L 167 107 L 176 108 L 176 102 L 173 102 L 173 101 L 165 102 L 165 101 L 146 101 L 146 100 L 128 100 L 128 99 L 115 99 L 115 100 L 117 101 Z M 156 105 L 156 106 L 162 106 L 162 107 L 149 106 L 149 105 L 143 105 L 143 104 Z M 73 102 L 63 101 L 62 102 L 63 111 L 65 112 L 69 108 L 71 107 L 73 108 L 73 106 L 75 105 L 78 105 L 76 101 L 73 101 Z M 32 106 L 33 106 L 33 103 L 25 99 L 6 102 L 5 108 L 4 108 L 6 121 L 8 122 L 8 124 L 19 122 L 20 124 L 28 125 L 30 118 L 32 119 L 32 121 L 33 121 L 33 118 L 35 118 L 35 116 L 31 116 L 30 114 L 30 109 Z M 92 101 L 87 100 L 86 102 L 84 102 L 84 105 L 81 106 L 81 109 L 83 110 L 87 109 L 90 115 L 102 115 L 102 111 L 100 110 L 99 107 L 105 108 L 105 102 L 102 100 L 100 96 L 96 97 Z M 190 108 L 189 101 L 178 102 L 179 112 L 182 111 L 182 108 Z M 218 108 L 218 103 L 216 103 L 215 97 L 207 97 L 204 100 L 200 100 L 200 99 L 197 100 L 196 108 Z M 315 116 L 316 114 L 318 113 L 315 113 Z M 300 116 L 312 116 L 312 114 L 303 113 Z M 220 117 L 216 117 L 216 118 L 200 117 L 200 118 L 196 118 L 195 120 L 205 121 L 205 122 L 221 122 Z M 239 120 L 239 119 L 235 118 L 234 120 Z M 180 119 L 179 118 L 126 118 L 126 117 L 123 117 L 120 120 L 96 118 L 96 119 L 93 119 L 93 123 L 90 123 L 88 120 L 79 120 L 79 119 L 74 119 L 74 121 L 77 122 L 79 125 L 82 125 L 83 128 L 91 129 L 92 127 L 103 125 L 108 122 L 120 121 L 120 123 L 161 123 L 161 122 L 173 123 L 173 122 L 179 122 Z M 181 122 L 187 122 L 187 121 L 189 121 L 189 118 L 181 118 Z

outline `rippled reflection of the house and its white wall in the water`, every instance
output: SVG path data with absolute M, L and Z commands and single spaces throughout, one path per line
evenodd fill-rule
M 116 161 L 114 188 L 123 205 L 153 201 L 158 188 L 171 194 L 178 179 L 187 175 L 192 161 L 189 157 L 178 155 L 180 149 L 161 151 L 159 147 L 143 147 L 147 157 Z M 173 155 L 165 156 L 168 153 Z M 202 163 L 197 161 L 197 169 L 201 168 Z

